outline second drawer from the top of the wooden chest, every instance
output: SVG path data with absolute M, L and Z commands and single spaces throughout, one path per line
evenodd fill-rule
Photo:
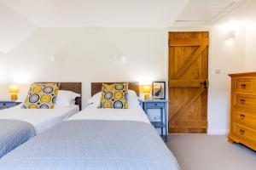
M 256 96 L 236 94 L 234 105 L 256 110 Z

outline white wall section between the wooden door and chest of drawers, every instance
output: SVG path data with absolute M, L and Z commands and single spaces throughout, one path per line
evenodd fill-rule
M 230 129 L 230 77 L 244 71 L 245 28 L 236 29 L 236 39 L 225 41 L 227 30 L 212 27 L 209 59 L 208 133 L 225 134 Z M 220 74 L 216 73 L 220 70 Z

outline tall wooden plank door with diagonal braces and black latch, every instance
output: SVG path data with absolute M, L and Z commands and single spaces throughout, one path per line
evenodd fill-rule
M 169 33 L 169 133 L 207 133 L 209 33 Z

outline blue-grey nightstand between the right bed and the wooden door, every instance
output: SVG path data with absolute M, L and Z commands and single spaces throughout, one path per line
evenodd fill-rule
M 167 120 L 167 103 L 168 100 L 165 99 L 154 99 L 154 100 L 142 100 L 141 105 L 143 110 L 148 115 L 149 109 L 159 109 L 160 110 L 160 122 L 151 122 L 155 128 L 161 128 L 161 135 L 163 136 L 163 131 L 166 131 L 166 141 L 168 135 L 168 120 Z

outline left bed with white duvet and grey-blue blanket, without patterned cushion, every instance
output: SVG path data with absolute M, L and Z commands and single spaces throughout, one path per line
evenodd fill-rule
M 64 93 L 73 94 L 71 100 L 79 96 L 69 91 Z M 72 102 L 67 105 L 64 100 L 59 100 L 54 109 L 22 109 L 22 105 L 0 111 L 0 158 L 28 139 L 79 112 L 79 105 Z

